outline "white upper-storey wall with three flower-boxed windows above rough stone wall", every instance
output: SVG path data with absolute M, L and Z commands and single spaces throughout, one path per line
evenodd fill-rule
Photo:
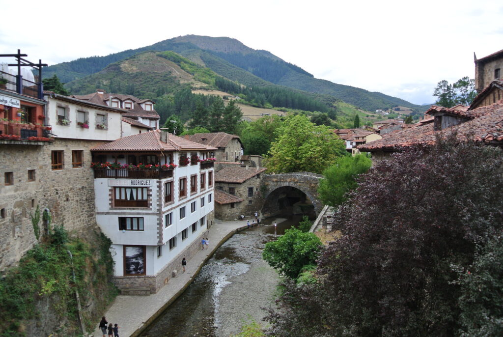
M 119 110 L 100 108 L 60 95 L 46 95 L 45 100 L 47 124 L 52 126 L 51 133 L 56 138 L 112 141 L 121 137 Z

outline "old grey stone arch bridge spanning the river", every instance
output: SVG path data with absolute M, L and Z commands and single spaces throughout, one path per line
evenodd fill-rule
M 318 199 L 319 180 L 323 178 L 311 172 L 293 172 L 277 175 L 262 176 L 262 195 L 264 197 L 264 206 L 262 213 L 266 216 L 275 215 L 280 211 L 280 200 L 285 199 L 289 194 L 295 195 L 295 192 L 302 192 L 306 201 L 312 203 L 314 212 L 317 216 L 323 204 Z M 302 197 L 302 196 L 301 196 Z

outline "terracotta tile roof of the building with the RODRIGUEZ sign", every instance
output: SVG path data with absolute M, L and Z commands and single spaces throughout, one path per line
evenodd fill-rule
M 211 146 L 198 144 L 190 140 L 174 136 L 168 137 L 168 142 L 160 140 L 160 130 L 152 130 L 132 136 L 119 138 L 113 142 L 95 146 L 91 151 L 188 151 L 216 150 Z

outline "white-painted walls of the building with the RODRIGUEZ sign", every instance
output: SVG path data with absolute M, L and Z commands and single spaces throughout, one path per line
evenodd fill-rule
M 180 153 L 186 153 L 190 157 L 190 152 L 174 152 L 175 163 L 179 162 Z M 198 153 L 198 155 L 204 156 L 203 153 Z M 120 163 L 125 164 L 121 160 L 125 159 L 119 159 Z M 160 162 L 160 164 L 163 163 Z M 200 167 L 199 163 L 179 166 L 173 170 L 173 177 L 164 179 L 95 179 L 96 220 L 103 233 L 112 240 L 115 276 L 155 276 L 190 244 L 201 240 L 202 233 L 207 229 L 207 215 L 213 211 L 214 198 L 213 182 L 209 184 L 209 172 L 213 172 L 213 167 L 205 170 L 200 170 Z M 205 177 L 204 186 L 201 186 L 202 174 Z M 194 176 L 197 177 L 195 191 L 191 193 L 191 177 Z M 185 196 L 182 197 L 180 196 L 181 179 L 185 179 L 186 184 Z M 172 201 L 166 203 L 166 184 L 170 183 L 172 184 Z M 148 195 L 146 207 L 116 207 L 115 205 L 115 198 L 121 193 L 143 195 L 145 192 Z M 185 209 L 183 217 L 181 217 L 181 209 Z M 171 224 L 166 218 L 169 214 L 171 214 Z M 131 220 L 127 220 L 128 218 Z M 132 220 L 133 218 L 136 220 Z M 124 221 L 129 221 L 130 229 L 120 227 L 121 221 L 122 224 Z M 137 224 L 136 230 L 132 227 L 133 221 Z M 140 222 L 143 224 L 142 230 L 140 230 Z M 176 242 L 175 245 L 173 241 Z M 125 257 L 126 249 L 131 249 L 131 251 L 138 249 L 138 252 L 143 250 L 144 261 L 131 262 L 142 259 L 141 257 Z M 139 264 L 142 266 L 138 267 Z M 137 268 L 139 268 L 138 272 L 135 270 Z

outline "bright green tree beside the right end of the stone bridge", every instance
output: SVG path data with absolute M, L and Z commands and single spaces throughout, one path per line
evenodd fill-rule
M 356 178 L 366 173 L 372 161 L 364 154 L 337 158 L 336 162 L 323 171 L 319 181 L 318 197 L 328 206 L 336 207 L 346 201 L 346 193 L 358 187 Z

